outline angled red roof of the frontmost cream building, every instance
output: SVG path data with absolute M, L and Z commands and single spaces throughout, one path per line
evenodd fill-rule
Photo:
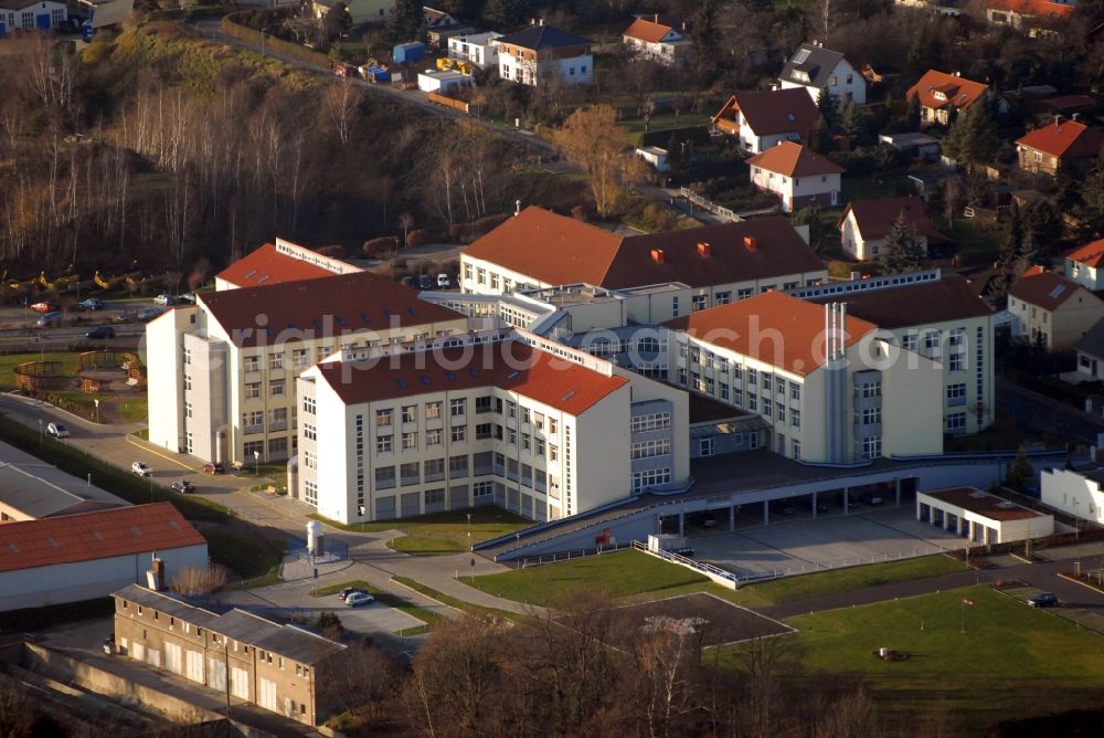
M 346 404 L 497 387 L 572 415 L 628 383 L 512 339 L 375 361 L 330 361 L 317 370 Z

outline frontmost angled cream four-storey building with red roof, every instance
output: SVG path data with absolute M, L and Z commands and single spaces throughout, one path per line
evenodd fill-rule
M 689 478 L 684 392 L 522 330 L 304 372 L 300 497 L 342 523 L 493 504 L 555 520 Z

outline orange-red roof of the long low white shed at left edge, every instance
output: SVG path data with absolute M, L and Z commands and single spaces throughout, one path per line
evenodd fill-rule
M 0 525 L 0 571 L 203 546 L 169 503 Z

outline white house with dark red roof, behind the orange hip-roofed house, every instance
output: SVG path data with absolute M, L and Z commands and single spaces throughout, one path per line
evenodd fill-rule
M 782 141 L 807 141 L 820 110 L 804 89 L 739 92 L 713 116 L 716 130 L 736 136 L 740 148 L 757 154 Z

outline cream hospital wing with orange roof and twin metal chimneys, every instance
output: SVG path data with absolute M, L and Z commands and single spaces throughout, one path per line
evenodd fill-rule
M 848 464 L 943 451 L 938 362 L 840 304 L 771 292 L 662 325 L 669 381 L 757 413 L 781 455 Z

